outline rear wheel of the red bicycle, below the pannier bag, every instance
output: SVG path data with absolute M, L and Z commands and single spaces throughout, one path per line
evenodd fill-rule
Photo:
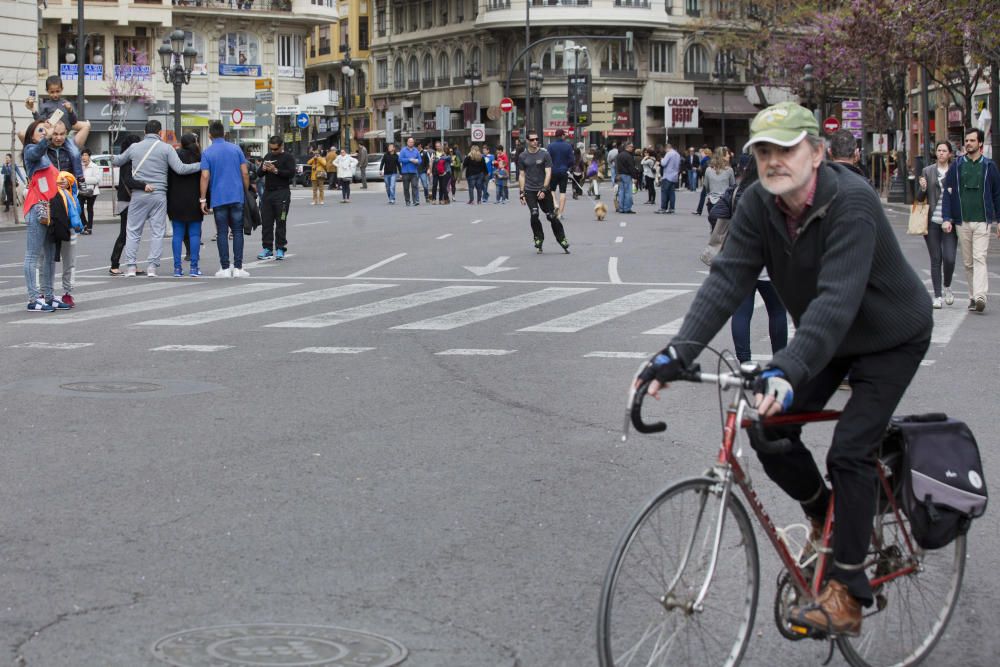
M 909 531 L 909 520 L 903 517 Z M 911 538 L 912 540 L 912 538 Z M 876 604 L 864 610 L 859 637 L 837 640 L 854 667 L 909 667 L 919 664 L 944 634 L 958 603 L 965 573 L 965 535 L 934 551 L 915 553 L 906 546 L 892 512 L 875 517 L 866 573 L 869 579 L 913 566 L 875 589 Z

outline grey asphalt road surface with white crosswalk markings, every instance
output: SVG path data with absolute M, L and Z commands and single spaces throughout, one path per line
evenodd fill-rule
M 51 315 L 24 311 L 23 231 L 0 234 L 0 661 L 155 665 L 165 635 L 273 622 L 391 637 L 419 667 L 596 664 L 620 532 L 718 442 L 716 396 L 692 386 L 657 405 L 665 436 L 620 440 L 634 357 L 704 279 L 707 225 L 689 193 L 678 215 L 637 201 L 603 223 L 581 200 L 572 254 L 549 239 L 536 255 L 526 209 L 464 196 L 390 207 L 373 184 L 311 207 L 297 190 L 288 259 L 256 263 L 255 235 L 244 280 L 111 278 L 117 228 L 98 226 L 79 240 L 78 307 Z M 218 268 L 211 243 L 202 268 Z M 997 480 L 1000 294 L 976 315 L 956 288 L 899 412 L 966 419 Z M 766 336 L 759 314 L 762 358 Z M 774 628 L 761 547 L 744 664 L 819 664 L 825 645 Z M 930 664 L 996 664 L 998 547 L 993 511 Z

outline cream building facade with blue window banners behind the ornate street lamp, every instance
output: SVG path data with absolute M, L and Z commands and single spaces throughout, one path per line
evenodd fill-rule
M 174 29 L 198 53 L 182 88 L 183 131 L 204 145 L 209 121 L 222 119 L 233 139 L 261 151 L 281 129 L 274 109 L 305 92 L 310 29 L 338 16 L 334 0 L 90 0 L 84 9 L 82 57 L 75 53 L 75 0 L 50 0 L 42 10 L 37 81 L 43 94 L 45 78 L 59 74 L 64 97 L 76 103 L 83 63 L 83 117 L 91 121 L 88 146 L 95 152 L 113 152 L 122 132 L 141 133 L 149 118 L 173 130 L 173 86 L 164 82 L 157 48 Z M 270 113 L 258 107 L 257 79 L 273 82 Z

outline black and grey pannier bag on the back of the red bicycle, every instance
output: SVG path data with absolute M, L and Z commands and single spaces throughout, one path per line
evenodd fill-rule
M 947 546 L 986 511 L 979 446 L 964 422 L 943 413 L 893 417 L 882 449 L 902 455 L 896 492 L 924 549 Z

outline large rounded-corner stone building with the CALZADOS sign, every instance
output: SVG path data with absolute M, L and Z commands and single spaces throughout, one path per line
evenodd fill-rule
M 595 144 L 669 140 L 681 147 L 723 142 L 739 147 L 749 119 L 768 100 L 752 94 L 738 55 L 721 53 L 714 45 L 713 30 L 721 30 L 713 28 L 715 18 L 724 17 L 728 25 L 739 21 L 728 5 L 719 0 L 374 0 L 375 124 L 384 130 L 385 114 L 391 112 L 397 140 L 437 138 L 443 130 L 446 138 L 467 144 L 467 126 L 475 120 L 486 125 L 492 142 L 516 136 L 517 128 L 526 125 L 530 95 L 527 125 L 549 135 L 564 128 Z M 633 35 L 631 50 L 626 31 Z M 551 39 L 518 59 L 527 40 L 542 38 Z M 541 74 L 533 86 L 526 80 L 529 61 Z M 726 80 L 713 76 L 720 62 L 730 65 Z M 567 118 L 567 77 L 580 73 L 590 75 L 593 107 L 590 124 L 582 129 Z M 513 99 L 516 115 L 499 113 L 505 95 Z M 685 114 L 668 113 L 668 101 L 696 112 L 681 122 Z M 451 112 L 445 128 L 436 125 L 440 106 Z M 505 131 L 504 124 L 514 132 Z

